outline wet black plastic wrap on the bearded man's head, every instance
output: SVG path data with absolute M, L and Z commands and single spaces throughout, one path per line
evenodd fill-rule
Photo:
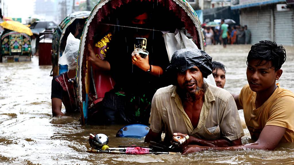
M 204 51 L 199 49 L 180 49 L 173 53 L 171 64 L 166 71 L 171 73 L 184 72 L 197 66 L 203 77 L 207 78 L 212 73 L 212 58 Z

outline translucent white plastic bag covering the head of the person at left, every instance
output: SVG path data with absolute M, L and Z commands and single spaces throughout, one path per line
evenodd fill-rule
M 80 40 L 76 39 L 74 35 L 69 33 L 66 40 L 65 50 L 62 56 L 59 58 L 58 63 L 60 65 L 68 65 L 69 70 L 76 69 L 76 60 L 78 57 L 78 49 L 80 46 Z

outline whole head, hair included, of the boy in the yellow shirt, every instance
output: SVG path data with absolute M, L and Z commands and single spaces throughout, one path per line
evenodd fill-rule
M 247 81 L 250 89 L 260 92 L 275 88 L 283 73 L 286 50 L 273 41 L 259 41 L 251 46 L 247 56 Z

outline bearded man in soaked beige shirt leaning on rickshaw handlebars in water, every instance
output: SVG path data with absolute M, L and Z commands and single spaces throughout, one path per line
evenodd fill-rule
M 211 57 L 202 50 L 181 49 L 173 54 L 167 68 L 173 85 L 158 89 L 153 97 L 145 142 L 161 141 L 164 131 L 167 145 L 173 135 L 181 133 L 190 135 L 188 144 L 242 144 L 244 133 L 233 96 L 203 80 L 211 68 Z

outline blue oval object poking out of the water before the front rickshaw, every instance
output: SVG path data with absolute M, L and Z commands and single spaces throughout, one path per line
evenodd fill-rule
M 143 124 L 130 124 L 122 127 L 116 133 L 116 137 L 142 138 L 149 132 L 149 127 Z

